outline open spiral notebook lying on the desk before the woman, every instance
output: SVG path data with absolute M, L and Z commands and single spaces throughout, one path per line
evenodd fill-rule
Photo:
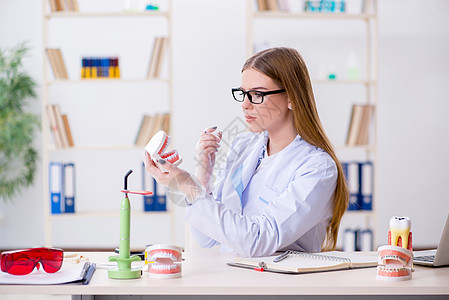
M 235 258 L 231 266 L 254 268 L 260 271 L 281 273 L 312 273 L 344 269 L 367 268 L 377 266 L 377 253 L 372 255 L 361 252 L 330 251 L 306 253 L 287 251 L 282 259 L 274 262 L 279 256 Z

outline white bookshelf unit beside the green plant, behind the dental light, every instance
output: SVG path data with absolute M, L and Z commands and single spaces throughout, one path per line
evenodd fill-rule
M 113 7 L 107 2 L 103 4 L 108 11 L 90 11 L 93 2 L 80 2 L 79 11 L 52 11 L 50 1 L 42 0 L 45 244 L 113 249 L 118 246 L 119 209 L 123 197 L 120 190 L 127 170 L 134 171 L 129 177 L 130 188 L 142 189 L 143 147 L 135 145 L 141 119 L 145 114 L 170 113 L 173 110 L 170 42 L 166 44 L 161 76 L 147 76 L 154 40 L 158 36 L 165 36 L 168 40 L 172 37 L 172 0 L 160 1 L 160 9 L 154 11 L 122 11 L 123 8 Z M 134 32 L 136 24 L 142 24 L 138 32 Z M 101 39 L 92 38 L 98 33 Z M 111 37 L 114 41 L 109 42 Z M 62 51 L 67 79 L 54 75 L 46 49 L 55 47 Z M 81 69 L 83 55 L 116 55 L 114 47 L 122 48 L 122 53 L 119 53 L 120 78 L 81 78 L 77 68 Z M 128 52 L 131 54 L 127 55 Z M 136 61 L 141 67 L 131 68 Z M 76 94 L 79 96 L 73 96 Z M 60 104 L 68 115 L 74 135 L 73 147 L 55 145 L 46 114 L 49 104 Z M 98 129 L 95 124 L 98 124 Z M 121 133 L 123 131 L 125 133 Z M 75 162 L 75 213 L 51 214 L 49 163 L 52 161 Z M 132 209 L 131 247 L 142 248 L 154 242 L 172 244 L 175 228 L 170 201 L 167 199 L 166 211 L 145 212 L 142 196 L 129 195 L 129 198 Z

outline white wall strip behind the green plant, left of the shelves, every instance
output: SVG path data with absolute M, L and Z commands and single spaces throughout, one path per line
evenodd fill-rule
M 0 46 L 12 47 L 30 41 L 31 55 L 24 60 L 26 70 L 40 84 L 42 82 L 41 6 L 39 1 L 0 1 Z M 26 7 L 27 9 L 24 9 Z M 40 112 L 41 89 L 38 98 L 30 100 L 30 111 Z M 40 137 L 36 149 L 41 147 Z M 42 180 L 37 173 L 32 188 L 9 203 L 0 204 L 0 247 L 18 248 L 43 244 Z

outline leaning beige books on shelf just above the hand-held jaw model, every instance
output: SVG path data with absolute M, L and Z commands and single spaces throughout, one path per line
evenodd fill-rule
M 170 131 L 170 114 L 144 115 L 136 138 L 136 146 L 145 146 L 159 130 Z

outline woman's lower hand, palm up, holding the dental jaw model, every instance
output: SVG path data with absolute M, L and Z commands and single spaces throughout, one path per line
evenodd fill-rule
M 201 196 L 204 188 L 202 188 L 186 170 L 180 169 L 168 161 L 160 159 L 158 164 L 164 166 L 165 172 L 163 172 L 157 164 L 154 163 L 150 154 L 146 151 L 143 161 L 145 169 L 159 184 L 183 193 L 188 198 L 190 204 L 193 203 L 196 198 Z

